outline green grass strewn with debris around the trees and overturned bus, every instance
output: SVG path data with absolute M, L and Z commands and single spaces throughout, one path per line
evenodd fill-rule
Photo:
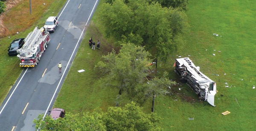
M 101 0 L 98 6 L 102 2 Z M 253 121 L 256 117 L 256 89 L 253 89 L 253 85 L 256 85 L 254 74 L 256 69 L 253 68 L 256 63 L 253 51 L 256 46 L 256 38 L 253 37 L 253 34 L 256 34 L 254 3 L 252 0 L 189 0 L 189 10 L 186 14 L 189 17 L 190 31 L 185 37 L 186 46 L 170 55 L 169 64 L 160 61 L 158 65 L 161 66 L 157 71 L 159 73 L 169 71 L 169 78 L 176 80 L 178 76 L 174 72 L 175 68 L 172 67 L 175 58 L 177 55 L 181 57 L 190 55 L 189 58 L 196 66 L 200 66 L 201 72 L 216 82 L 218 90 L 215 95 L 216 106 L 212 107 L 207 102 L 199 101 L 196 94 L 184 84 L 172 87 L 170 91 L 173 95 L 155 98 L 154 112 L 163 118 L 158 124 L 164 131 L 254 130 L 256 124 Z M 67 112 L 93 111 L 94 108 L 102 108 L 106 111 L 109 106 L 115 106 L 118 91 L 106 87 L 101 82 L 102 76 L 93 69 L 101 60 L 101 56 L 111 50 L 111 45 L 114 43 L 114 40 L 104 38 L 105 28 L 97 22 L 97 13 L 96 10 L 54 104 L 54 107 L 64 108 Z M 44 14 L 44 16 L 48 15 Z M 87 41 L 91 36 L 93 40 L 101 41 L 100 50 L 92 51 L 88 48 Z M 15 63 L 18 65 L 17 60 L 11 60 L 7 53 L 5 55 L 0 57 L 1 65 L 12 65 L 12 68 L 21 71 L 15 66 Z M 12 62 L 10 65 L 3 63 L 7 59 Z M 79 73 L 78 70 L 81 69 L 85 71 Z M 0 70 L 1 75 L 5 75 L 3 72 L 8 72 L 8 68 Z M 15 81 L 18 74 L 14 75 L 9 75 L 13 77 L 10 80 Z M 2 81 L 3 79 L 1 83 Z M 11 86 L 4 84 L 5 87 Z M 179 91 L 178 88 L 182 89 Z M 8 88 L 5 91 L 7 90 Z M 1 97 L 4 98 L 3 95 Z M 120 106 L 126 103 L 128 101 L 124 100 Z M 151 104 L 152 101 L 147 100 L 141 106 L 149 113 Z M 221 114 L 224 111 L 231 113 L 224 116 Z M 189 117 L 194 117 L 194 120 L 189 120 Z

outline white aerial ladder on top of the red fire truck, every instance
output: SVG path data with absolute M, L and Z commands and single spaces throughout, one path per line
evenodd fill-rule
M 32 50 L 32 48 L 35 46 L 35 43 L 38 42 L 38 40 L 42 37 L 41 30 L 38 29 L 38 27 L 35 27 L 35 29 L 30 32 L 27 37 L 25 38 L 25 43 L 22 46 L 21 50 L 29 51 Z

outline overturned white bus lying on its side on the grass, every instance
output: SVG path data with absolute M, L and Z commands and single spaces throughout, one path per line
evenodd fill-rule
M 199 67 L 196 67 L 189 58 L 176 59 L 175 72 L 180 75 L 180 82 L 189 85 L 200 100 L 215 106 L 216 83 L 200 72 Z

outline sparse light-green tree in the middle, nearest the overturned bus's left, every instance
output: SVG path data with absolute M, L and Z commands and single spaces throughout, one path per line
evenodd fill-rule
M 166 78 L 167 73 L 160 78 L 147 79 L 154 73 L 149 56 L 151 54 L 141 46 L 122 44 L 118 54 L 113 50 L 103 56 L 105 61 L 97 63 L 95 68 L 105 74 L 102 79 L 108 86 L 119 89 L 120 95 L 124 93 L 132 101 L 143 102 L 153 94 L 168 93 L 166 87 L 175 85 Z

